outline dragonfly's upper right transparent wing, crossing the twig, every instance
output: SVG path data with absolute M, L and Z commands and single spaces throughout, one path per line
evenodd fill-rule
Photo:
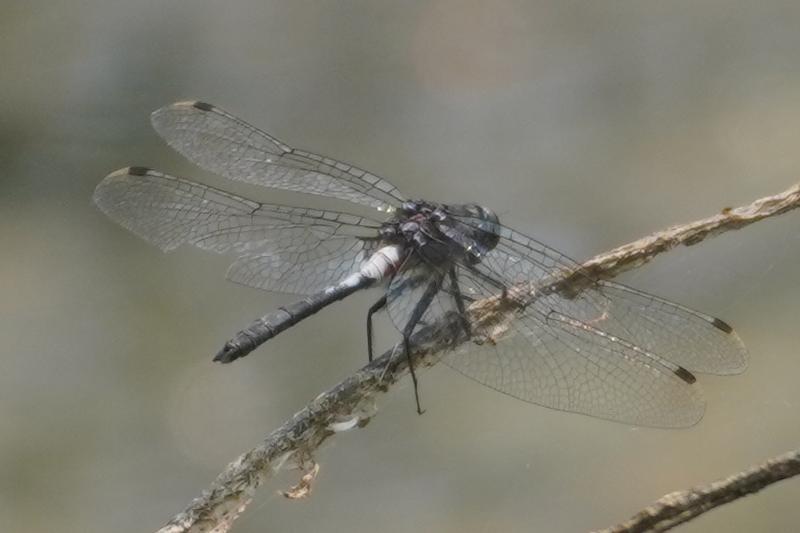
M 498 245 L 475 268 L 505 286 L 525 282 L 546 286 L 580 272 L 577 262 L 557 250 L 510 228 L 498 225 L 497 232 Z M 577 294 L 554 292 L 534 298 L 539 306 L 627 339 L 695 372 L 735 374 L 747 365 L 744 344 L 720 319 L 619 283 L 586 277 L 581 286 Z M 467 284 L 463 290 L 475 289 Z

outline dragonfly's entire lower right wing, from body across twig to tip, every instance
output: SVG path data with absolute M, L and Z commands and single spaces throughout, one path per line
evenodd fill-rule
M 497 294 L 497 284 L 463 265 L 450 266 L 455 283 L 449 267 L 412 255 L 389 285 L 387 308 L 404 331 L 424 293 L 434 287 L 437 292 L 417 327 L 441 323 L 443 331 L 451 331 L 447 320 L 469 317 L 467 327 L 484 342 L 462 343 L 447 352 L 443 362 L 451 368 L 523 401 L 629 424 L 683 427 L 702 417 L 704 402 L 691 374 L 633 343 L 554 312 L 544 302 L 508 311 L 513 316 L 496 321 L 505 324 L 502 330 L 490 335 L 478 331 L 492 325 L 472 321 L 476 315 L 471 306 Z M 458 298 L 466 313 L 461 313 Z

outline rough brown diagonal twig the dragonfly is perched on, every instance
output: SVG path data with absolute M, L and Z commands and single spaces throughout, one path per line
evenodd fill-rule
M 738 208 L 725 208 L 721 213 L 689 224 L 677 225 L 598 255 L 573 272 L 554 276 L 548 289 L 580 291 L 587 280 L 608 279 L 639 267 L 656 255 L 680 244 L 690 246 L 720 233 L 739 229 L 767 217 L 800 207 L 800 184 L 777 194 Z M 523 284 L 512 290 L 531 291 Z M 539 285 L 541 289 L 541 285 Z M 503 309 L 507 298 L 490 297 L 474 302 L 481 313 L 494 312 L 508 316 Z M 442 323 L 421 329 L 411 339 L 412 361 L 416 365 L 432 365 L 434 356 L 465 342 L 463 328 L 457 320 L 445 317 Z M 407 371 L 405 357 L 395 357 L 395 349 L 358 370 L 352 376 L 323 392 L 305 408 L 270 433 L 266 439 L 245 452 L 173 517 L 158 533 L 197 533 L 228 531 L 233 521 L 250 503 L 252 496 L 270 474 L 285 461 L 304 465 L 321 444 L 337 431 L 363 426 L 374 414 L 374 398 L 385 392 Z

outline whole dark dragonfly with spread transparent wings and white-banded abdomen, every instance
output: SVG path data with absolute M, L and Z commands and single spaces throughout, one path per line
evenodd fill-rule
M 231 281 L 302 296 L 237 333 L 218 362 L 380 287 L 367 311 L 368 356 L 373 314 L 384 310 L 402 336 L 420 413 L 410 345 L 415 332 L 436 324 L 459 331 L 463 342 L 442 360 L 461 374 L 526 402 L 632 425 L 694 425 L 705 409 L 695 373 L 746 367 L 746 348 L 726 322 L 592 278 L 489 208 L 410 200 L 382 177 L 293 148 L 205 102 L 168 105 L 151 122 L 207 171 L 352 207 L 258 202 L 145 167 L 100 182 L 93 196 L 100 210 L 161 250 L 232 254 Z M 501 311 L 482 314 L 486 302 Z

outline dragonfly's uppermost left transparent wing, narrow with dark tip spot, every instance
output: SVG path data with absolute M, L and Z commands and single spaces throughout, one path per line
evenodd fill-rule
M 403 196 L 374 174 L 292 148 L 204 102 L 178 102 L 151 116 L 167 143 L 193 163 L 232 180 L 329 196 L 387 210 Z

